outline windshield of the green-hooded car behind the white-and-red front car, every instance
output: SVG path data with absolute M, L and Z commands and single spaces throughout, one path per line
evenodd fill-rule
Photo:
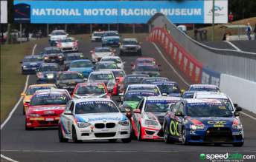
M 141 101 L 144 97 L 158 96 L 156 92 L 127 92 L 124 101 Z

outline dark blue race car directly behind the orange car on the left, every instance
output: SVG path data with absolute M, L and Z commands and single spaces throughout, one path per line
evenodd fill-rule
M 60 72 L 60 67 L 56 63 L 41 64 L 36 72 L 36 84 L 56 84 Z

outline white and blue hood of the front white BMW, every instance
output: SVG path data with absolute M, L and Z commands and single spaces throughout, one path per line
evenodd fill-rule
M 125 121 L 127 117 L 121 112 L 112 113 L 92 113 L 92 114 L 74 114 L 74 121 L 76 122 L 103 122 L 103 121 Z

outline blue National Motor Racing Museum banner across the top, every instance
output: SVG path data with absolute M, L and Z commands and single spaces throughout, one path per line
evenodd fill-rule
M 155 13 L 175 23 L 228 22 L 228 0 L 215 1 L 13 1 L 15 23 L 147 24 Z

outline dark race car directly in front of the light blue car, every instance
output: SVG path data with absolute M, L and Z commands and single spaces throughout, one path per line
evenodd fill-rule
M 73 93 L 77 84 L 85 82 L 83 73 L 80 71 L 61 72 L 57 78 L 56 85 L 60 89 L 66 89 L 69 93 Z

